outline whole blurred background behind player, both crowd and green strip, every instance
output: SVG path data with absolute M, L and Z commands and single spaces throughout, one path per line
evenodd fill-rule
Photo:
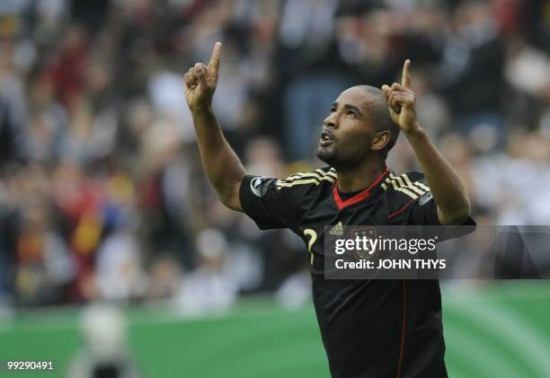
M 549 1 L 2 0 L 0 359 L 328 376 L 304 246 L 226 210 L 200 167 L 182 73 L 217 40 L 214 107 L 249 171 L 316 167 L 337 94 L 408 57 L 478 223 L 549 224 Z M 400 138 L 389 165 L 414 164 Z M 550 376 L 549 289 L 443 283 L 451 376 Z

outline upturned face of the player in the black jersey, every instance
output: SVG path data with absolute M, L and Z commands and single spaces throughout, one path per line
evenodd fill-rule
M 339 171 L 352 170 L 368 159 L 376 135 L 368 112 L 373 101 L 377 101 L 373 94 L 356 87 L 340 94 L 323 121 L 319 159 Z

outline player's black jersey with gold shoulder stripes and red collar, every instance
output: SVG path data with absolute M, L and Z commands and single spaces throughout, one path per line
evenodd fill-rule
M 333 377 L 446 377 L 438 280 L 324 278 L 327 225 L 439 224 L 423 174 L 386 169 L 351 198 L 337 179 L 331 167 L 286 180 L 247 175 L 241 205 L 261 229 L 288 227 L 306 243 Z

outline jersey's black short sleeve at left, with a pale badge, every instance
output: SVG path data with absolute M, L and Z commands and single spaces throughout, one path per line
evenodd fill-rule
M 276 183 L 277 179 L 253 175 L 246 175 L 241 181 L 241 207 L 262 230 L 293 228 L 297 224 L 292 192 L 278 189 Z

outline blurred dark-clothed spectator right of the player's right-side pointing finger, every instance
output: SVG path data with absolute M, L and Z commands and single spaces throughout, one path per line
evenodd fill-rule
M 439 79 L 451 115 L 465 132 L 486 127 L 502 136 L 504 47 L 492 4 L 459 4 L 450 22 Z

